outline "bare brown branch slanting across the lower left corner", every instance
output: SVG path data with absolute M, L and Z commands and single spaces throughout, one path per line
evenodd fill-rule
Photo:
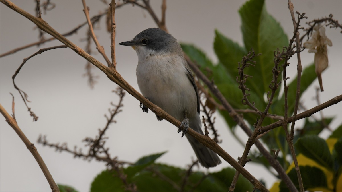
M 21 131 L 19 128 L 17 122 L 11 117 L 10 114 L 7 113 L 7 111 L 2 107 L 0 104 L 0 112 L 4 116 L 6 122 L 14 129 L 15 133 L 21 138 L 21 140 L 26 145 L 27 149 L 31 152 L 31 154 L 35 157 L 37 163 L 39 164 L 41 170 L 43 171 L 45 178 L 48 180 L 51 190 L 53 192 L 59 192 L 60 190 L 57 187 L 57 184 L 52 178 L 52 175 L 49 172 L 48 167 L 45 165 L 42 157 L 37 151 L 37 148 L 34 146 L 33 143 L 31 143 L 28 138 L 25 136 L 25 134 Z

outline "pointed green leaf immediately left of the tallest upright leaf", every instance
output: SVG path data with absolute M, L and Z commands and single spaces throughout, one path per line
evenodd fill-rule
M 214 50 L 220 62 L 227 69 L 231 77 L 238 76 L 238 63 L 247 55 L 244 47 L 226 38 L 218 30 L 215 30 Z

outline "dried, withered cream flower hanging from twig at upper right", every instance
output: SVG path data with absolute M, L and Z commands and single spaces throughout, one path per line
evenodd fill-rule
M 321 91 L 323 90 L 322 72 L 328 67 L 328 46 L 332 46 L 332 42 L 325 35 L 325 28 L 320 24 L 314 27 L 311 39 L 304 43 L 304 47 L 309 49 L 309 53 L 315 53 L 315 72 Z

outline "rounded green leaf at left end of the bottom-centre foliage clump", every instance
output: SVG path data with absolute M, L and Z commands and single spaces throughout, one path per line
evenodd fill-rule
M 91 183 L 91 192 L 124 192 L 124 186 L 117 173 L 104 170 Z

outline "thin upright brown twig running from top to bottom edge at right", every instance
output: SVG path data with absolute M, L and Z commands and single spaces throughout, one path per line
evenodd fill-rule
M 295 98 L 295 104 L 294 104 L 294 110 L 293 110 L 293 122 L 291 124 L 291 133 L 290 133 L 290 136 L 287 134 L 286 140 L 288 142 L 288 145 L 289 145 L 289 148 L 290 148 L 290 151 L 291 151 L 291 155 L 292 155 L 292 159 L 293 159 L 293 163 L 294 163 L 294 166 L 295 166 L 295 170 L 296 170 L 296 173 L 297 173 L 298 183 L 299 183 L 299 191 L 300 192 L 304 192 L 303 180 L 302 180 L 302 176 L 301 176 L 299 165 L 298 165 L 298 161 L 297 161 L 297 156 L 296 156 L 296 153 L 295 153 L 294 147 L 293 147 L 294 124 L 295 124 L 295 121 L 296 121 L 296 118 L 297 118 L 297 111 L 298 111 L 298 105 L 299 105 L 299 96 L 300 96 L 300 83 L 301 83 L 302 69 L 303 68 L 302 68 L 302 63 L 301 63 L 301 58 L 300 58 L 300 41 L 299 41 L 299 30 L 298 30 L 299 24 L 296 23 L 296 20 L 294 18 L 293 4 L 292 4 L 291 0 L 288 0 L 288 5 L 289 5 L 289 10 L 290 10 L 291 18 L 292 18 L 294 33 L 296 34 L 296 46 L 297 46 L 297 92 L 296 92 L 296 98 Z M 298 19 L 298 22 L 299 22 L 299 20 L 300 19 Z M 283 127 L 287 131 L 287 125 L 285 126 L 285 123 L 284 123 Z

